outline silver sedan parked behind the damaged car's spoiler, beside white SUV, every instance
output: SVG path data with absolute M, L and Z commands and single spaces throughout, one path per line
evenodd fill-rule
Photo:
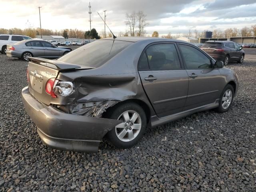
M 28 61 L 29 57 L 55 59 L 70 51 L 71 48 L 55 46 L 44 40 L 26 40 L 7 45 L 6 55 Z

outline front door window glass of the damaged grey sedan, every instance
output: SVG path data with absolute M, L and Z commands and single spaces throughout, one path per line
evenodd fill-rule
M 179 47 L 187 69 L 212 68 L 210 59 L 200 50 L 182 44 Z

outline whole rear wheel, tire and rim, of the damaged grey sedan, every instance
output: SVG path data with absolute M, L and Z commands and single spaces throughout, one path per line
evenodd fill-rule
M 136 103 L 118 104 L 109 109 L 106 118 L 122 120 L 106 134 L 106 139 L 116 148 L 130 148 L 142 138 L 147 125 L 144 110 Z

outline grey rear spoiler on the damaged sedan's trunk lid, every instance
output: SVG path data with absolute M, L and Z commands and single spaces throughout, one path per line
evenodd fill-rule
M 38 57 L 28 57 L 31 61 L 35 61 L 36 64 L 43 65 L 49 68 L 54 68 L 57 70 L 67 70 L 67 69 L 93 69 L 95 67 L 80 66 L 72 63 L 66 63 L 58 60 L 44 59 Z

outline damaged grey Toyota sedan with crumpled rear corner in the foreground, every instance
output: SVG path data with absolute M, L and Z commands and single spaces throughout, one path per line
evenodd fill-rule
M 97 152 L 103 137 L 132 147 L 147 126 L 226 112 L 239 87 L 223 62 L 175 39 L 106 38 L 31 60 L 23 103 L 42 141 L 60 150 Z

